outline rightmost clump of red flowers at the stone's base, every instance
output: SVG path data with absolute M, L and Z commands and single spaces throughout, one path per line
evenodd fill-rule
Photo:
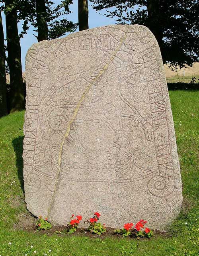
M 126 223 L 122 229 L 116 229 L 116 234 L 122 234 L 122 236 L 130 236 L 132 234 L 136 234 L 137 238 L 148 237 L 151 238 L 153 236 L 152 230 L 149 228 L 144 228 L 144 225 L 147 221 L 140 220 L 133 227 L 133 223 Z

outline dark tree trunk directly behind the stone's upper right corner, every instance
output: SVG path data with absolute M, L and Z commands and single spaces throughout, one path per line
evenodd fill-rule
M 158 41 L 158 44 L 162 53 L 163 62 L 165 62 L 164 51 L 163 51 L 163 30 L 162 30 L 161 22 L 157 18 L 161 16 L 160 0 L 148 0 L 146 7 L 148 11 L 148 19 L 146 22 L 147 27 L 156 37 L 156 40 Z

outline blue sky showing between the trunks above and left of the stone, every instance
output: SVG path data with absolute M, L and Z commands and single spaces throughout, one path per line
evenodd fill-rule
M 60 3 L 60 0 L 54 0 L 55 4 Z M 88 9 L 89 9 L 89 28 L 96 28 L 100 26 L 105 25 L 111 25 L 115 24 L 115 20 L 107 18 L 103 15 L 100 15 L 97 13 L 92 7 L 91 3 L 88 0 Z M 78 0 L 73 0 L 73 4 L 70 5 L 70 10 L 72 13 L 68 15 L 68 20 L 71 20 L 73 22 L 78 22 Z M 5 26 L 5 17 L 4 14 L 2 14 L 2 20 L 4 25 L 4 38 L 6 38 L 6 26 Z M 21 23 L 18 24 L 18 30 L 19 33 L 21 32 Z M 27 34 L 24 35 L 24 37 L 20 40 L 21 43 L 21 62 L 22 62 L 22 69 L 25 71 L 25 55 L 27 53 L 27 50 L 33 43 L 37 43 L 36 37 L 33 35 L 35 32 L 33 32 L 34 28 L 30 27 L 27 31 Z M 78 30 L 77 30 L 78 31 Z

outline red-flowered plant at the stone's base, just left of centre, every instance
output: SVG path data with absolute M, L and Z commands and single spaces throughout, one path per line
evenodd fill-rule
M 94 217 L 90 218 L 87 222 L 89 224 L 88 226 L 88 230 L 93 233 L 93 234 L 102 234 L 104 232 L 106 232 L 106 227 L 105 227 L 105 223 L 101 224 L 100 222 L 98 222 L 98 220 L 100 219 L 100 213 L 95 212 L 94 213 Z

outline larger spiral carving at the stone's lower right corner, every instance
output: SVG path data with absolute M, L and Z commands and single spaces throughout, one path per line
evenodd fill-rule
M 148 181 L 148 191 L 156 197 L 166 197 L 174 190 L 173 177 L 156 175 Z

